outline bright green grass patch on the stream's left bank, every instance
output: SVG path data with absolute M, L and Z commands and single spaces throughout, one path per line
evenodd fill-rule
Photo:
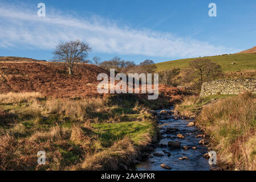
M 131 140 L 138 144 L 145 140 L 148 133 L 155 135 L 155 126 L 151 122 L 121 122 L 121 123 L 94 123 L 91 125 L 96 129 L 99 135 L 101 145 L 104 147 L 111 146 L 113 142 L 128 136 Z

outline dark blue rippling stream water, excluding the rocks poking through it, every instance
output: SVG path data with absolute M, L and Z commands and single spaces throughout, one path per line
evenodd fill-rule
M 170 108 L 173 109 L 173 108 Z M 161 118 L 161 110 L 156 110 L 157 115 Z M 151 158 L 149 157 L 144 162 L 141 162 L 136 166 L 137 171 L 161 171 L 167 170 L 162 168 L 162 163 L 171 167 L 173 171 L 209 171 L 208 159 L 204 158 L 204 154 L 208 152 L 205 146 L 199 144 L 202 138 L 196 138 L 196 135 L 202 134 L 197 127 L 188 127 L 188 123 L 192 120 L 175 119 L 171 116 L 168 119 L 160 119 L 159 128 L 161 135 L 164 137 L 160 139 L 159 144 L 155 151 L 152 152 Z M 173 127 L 177 131 L 174 133 L 166 133 L 168 127 Z M 185 138 L 177 138 L 177 134 L 182 134 Z M 181 147 L 169 148 L 168 142 L 176 141 L 181 142 Z M 161 145 L 162 144 L 162 145 Z M 167 146 L 165 146 L 167 145 Z M 185 150 L 183 146 L 189 147 Z M 192 147 L 196 147 L 193 149 Z M 154 153 L 161 153 L 164 156 L 154 156 Z M 167 153 L 171 155 L 168 156 Z M 186 156 L 188 159 L 180 160 Z

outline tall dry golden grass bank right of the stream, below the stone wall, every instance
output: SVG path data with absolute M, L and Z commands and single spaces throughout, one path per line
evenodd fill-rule
M 197 125 L 212 137 L 219 162 L 240 170 L 256 169 L 256 98 L 251 93 L 203 107 Z

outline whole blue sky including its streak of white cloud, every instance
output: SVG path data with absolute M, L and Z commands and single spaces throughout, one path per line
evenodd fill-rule
M 93 49 L 88 59 L 158 63 L 256 46 L 256 1 L 0 0 L 0 27 L 0 56 L 48 60 L 58 42 L 79 38 Z

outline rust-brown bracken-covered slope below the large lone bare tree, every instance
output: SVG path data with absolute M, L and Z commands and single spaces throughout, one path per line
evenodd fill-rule
M 40 92 L 53 97 L 99 96 L 97 75 L 105 69 L 77 64 L 69 76 L 63 63 L 0 62 L 0 93 Z

